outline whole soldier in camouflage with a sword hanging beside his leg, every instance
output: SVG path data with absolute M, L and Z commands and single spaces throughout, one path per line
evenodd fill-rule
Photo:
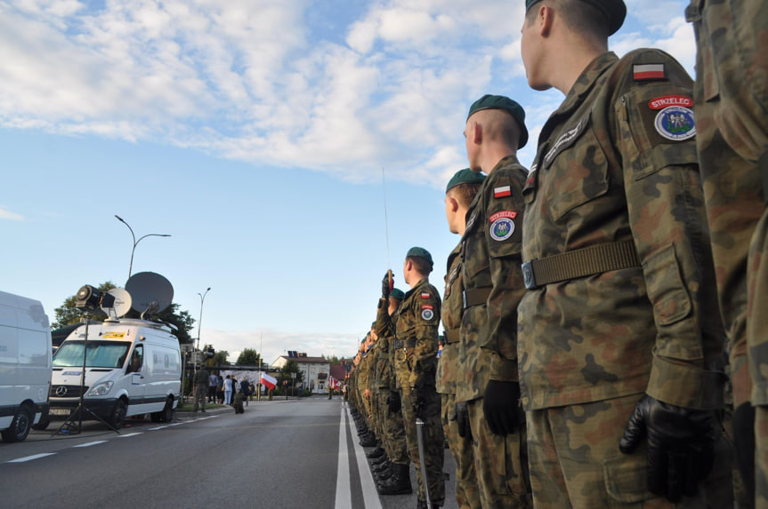
M 445 479 L 442 473 L 443 433 L 441 405 L 435 391 L 437 338 L 441 299 L 429 283 L 432 255 L 424 248 L 408 250 L 403 263 L 403 278 L 410 286 L 397 312 L 395 326 L 395 372 L 400 388 L 401 412 L 408 444 L 408 456 L 416 465 L 418 506 L 425 507 L 424 482 L 428 483 L 433 507 L 443 505 Z M 391 274 L 391 273 L 390 273 Z M 416 439 L 416 418 L 424 421 L 424 463 L 427 479 L 422 479 Z M 399 473 L 400 475 L 404 472 Z

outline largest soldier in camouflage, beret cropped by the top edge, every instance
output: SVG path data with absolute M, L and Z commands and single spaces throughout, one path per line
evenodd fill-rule
M 566 94 L 523 190 L 518 354 L 534 503 L 731 506 L 691 79 L 659 50 L 608 52 L 621 0 L 526 8 L 529 84 Z

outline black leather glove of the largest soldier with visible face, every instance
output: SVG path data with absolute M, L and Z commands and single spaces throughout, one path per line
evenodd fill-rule
M 695 495 L 712 468 L 718 426 L 714 411 L 684 409 L 646 394 L 637 402 L 618 449 L 628 454 L 644 438 L 648 490 L 674 503 Z

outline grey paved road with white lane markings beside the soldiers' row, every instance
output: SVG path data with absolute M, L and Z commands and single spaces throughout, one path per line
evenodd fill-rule
M 416 507 L 415 493 L 377 496 L 365 449 L 338 398 L 251 402 L 243 415 L 179 414 L 167 425 L 128 422 L 119 433 L 86 421 L 83 433 L 52 436 L 54 421 L 27 441 L 0 442 L 0 505 Z

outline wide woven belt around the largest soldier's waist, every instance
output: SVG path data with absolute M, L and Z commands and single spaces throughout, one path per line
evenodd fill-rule
M 622 241 L 566 251 L 522 264 L 525 288 L 535 290 L 553 282 L 640 266 L 635 243 Z

